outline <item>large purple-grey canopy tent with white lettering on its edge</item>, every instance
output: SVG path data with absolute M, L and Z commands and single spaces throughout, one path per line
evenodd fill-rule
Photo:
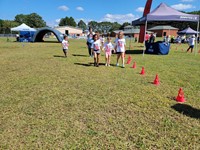
M 167 6 L 165 3 L 161 3 L 157 8 L 155 8 L 152 12 L 147 14 L 145 17 L 141 17 L 137 20 L 132 21 L 132 25 L 145 24 L 145 33 L 146 33 L 148 22 L 155 22 L 155 21 L 197 22 L 197 32 L 199 29 L 199 15 L 182 13 L 180 11 L 177 11 Z M 196 43 L 196 51 L 197 51 L 197 43 Z M 145 52 L 145 45 L 144 45 L 143 55 L 144 55 L 144 52 Z

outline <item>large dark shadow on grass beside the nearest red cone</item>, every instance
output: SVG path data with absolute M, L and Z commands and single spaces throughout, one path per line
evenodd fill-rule
M 174 110 L 178 111 L 179 113 L 186 115 L 191 118 L 200 119 L 200 110 L 193 108 L 190 105 L 186 104 L 175 104 L 171 106 Z

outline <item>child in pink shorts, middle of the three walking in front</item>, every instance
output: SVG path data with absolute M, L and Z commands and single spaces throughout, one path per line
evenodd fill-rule
M 113 49 L 114 48 L 111 43 L 111 38 L 108 37 L 107 42 L 103 46 L 103 50 L 105 51 L 105 61 L 106 61 L 105 66 L 110 66 L 110 57 Z

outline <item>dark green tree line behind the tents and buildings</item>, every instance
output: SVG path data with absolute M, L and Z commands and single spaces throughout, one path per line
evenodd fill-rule
M 186 13 L 186 12 L 184 12 Z M 187 12 L 188 14 L 197 14 L 200 15 L 199 11 L 193 11 L 193 12 Z M 27 24 L 28 26 L 32 28 L 41 28 L 46 27 L 47 24 L 43 20 L 43 18 L 38 15 L 37 13 L 31 13 L 31 14 L 18 14 L 15 16 L 14 20 L 2 20 L 0 19 L 0 34 L 9 34 L 10 28 L 16 27 L 22 23 Z M 149 27 L 160 25 L 160 24 L 170 24 L 173 27 L 179 28 L 180 30 L 190 26 L 193 29 L 197 28 L 196 23 L 194 22 L 154 22 L 153 24 L 150 24 Z M 79 27 L 83 31 L 88 29 L 88 27 L 92 27 L 94 31 L 98 31 L 100 33 L 107 33 L 112 32 L 114 30 L 121 30 L 125 26 L 130 25 L 129 22 L 125 22 L 123 24 L 119 24 L 118 22 L 97 22 L 97 21 L 90 21 L 88 24 L 86 24 L 83 20 L 80 20 L 78 23 L 74 20 L 73 17 L 66 16 L 65 18 L 61 18 L 60 22 L 58 24 L 59 26 L 73 26 L 73 27 Z

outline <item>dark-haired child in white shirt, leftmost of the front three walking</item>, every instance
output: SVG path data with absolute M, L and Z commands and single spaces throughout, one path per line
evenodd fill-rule
M 97 34 L 93 36 L 94 42 L 92 43 L 92 52 L 94 55 L 94 66 L 99 67 L 99 56 L 101 52 L 101 41 Z

